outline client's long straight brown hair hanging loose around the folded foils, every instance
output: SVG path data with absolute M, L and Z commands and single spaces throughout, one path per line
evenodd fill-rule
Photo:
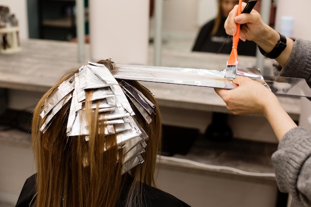
M 112 69 L 110 61 L 99 61 Z M 49 95 L 78 69 L 64 74 L 40 99 L 33 113 L 32 143 L 37 168 L 37 194 L 34 207 L 115 207 L 119 203 L 126 176 L 121 175 L 123 151 L 118 149 L 116 135 L 104 135 L 104 125 L 97 119 L 98 106 L 91 109 L 91 91 L 86 92 L 85 109 L 89 127 L 89 139 L 84 136 L 67 137 L 66 124 L 70 101 L 55 115 L 52 124 L 43 134 L 40 127 L 45 118 L 40 117 L 42 106 Z M 138 81 L 129 81 L 156 105 L 151 92 Z M 161 117 L 158 110 L 151 115 L 151 124 L 146 123 L 136 107 L 132 107 L 136 120 L 149 138 L 143 153 L 144 163 L 131 169 L 133 177 L 128 192 L 127 206 L 142 206 L 141 182 L 155 186 L 154 172 L 156 155 L 161 146 Z M 158 109 L 158 106 L 156 105 Z M 109 146 L 105 150 L 105 146 Z M 134 206 L 134 205 L 133 205 Z

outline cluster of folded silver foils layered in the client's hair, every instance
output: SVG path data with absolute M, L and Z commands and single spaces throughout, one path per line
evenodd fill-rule
M 120 82 L 120 83 L 119 83 Z M 67 136 L 83 136 L 89 140 L 89 123 L 84 104 L 86 91 L 91 91 L 88 99 L 91 109 L 98 111 L 98 124 L 104 124 L 105 135 L 115 134 L 118 148 L 124 151 L 122 173 L 144 162 L 141 154 L 145 152 L 148 135 L 133 117 L 130 102 L 136 107 L 147 123 L 156 109 L 144 94 L 130 83 L 117 81 L 104 65 L 89 63 L 81 67 L 75 75 L 65 80 L 47 98 L 40 113 L 44 119 L 40 131 L 45 133 L 53 124 L 56 114 L 70 103 Z M 120 85 L 119 85 L 120 84 Z M 67 105 L 68 106 L 68 105 Z

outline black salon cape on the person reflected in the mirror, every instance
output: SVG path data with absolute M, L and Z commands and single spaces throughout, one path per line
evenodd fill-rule
M 196 38 L 192 51 L 217 53 L 226 41 L 228 34 L 224 28 L 226 17 L 222 18 L 217 33 L 211 36 L 214 27 L 215 19 L 206 23 L 201 29 Z M 237 54 L 245 56 L 256 56 L 257 44 L 246 40 L 245 42 L 239 40 L 237 45 Z M 232 50 L 232 36 L 228 38 L 225 45 L 219 53 L 230 54 Z

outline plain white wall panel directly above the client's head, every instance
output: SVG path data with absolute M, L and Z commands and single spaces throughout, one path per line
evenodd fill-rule
M 89 23 L 92 61 L 147 65 L 149 1 L 91 0 Z

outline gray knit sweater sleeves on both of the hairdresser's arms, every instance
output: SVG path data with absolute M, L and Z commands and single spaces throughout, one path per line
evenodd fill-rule
M 311 86 L 311 41 L 295 40 L 290 59 L 278 75 L 305 78 Z M 280 191 L 293 196 L 291 207 L 311 207 L 311 133 L 302 127 L 287 132 L 272 155 L 272 164 Z

